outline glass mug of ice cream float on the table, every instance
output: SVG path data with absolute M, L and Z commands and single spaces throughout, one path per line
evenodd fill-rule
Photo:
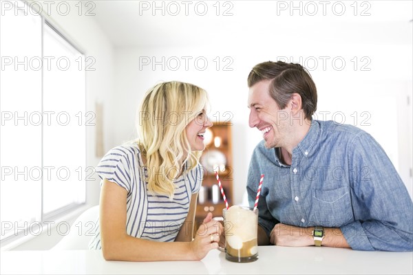
M 258 259 L 258 209 L 232 206 L 222 210 L 225 230 L 225 259 L 250 263 Z

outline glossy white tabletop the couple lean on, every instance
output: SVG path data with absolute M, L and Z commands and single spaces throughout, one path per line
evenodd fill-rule
M 100 251 L 3 251 L 0 274 L 413 274 L 413 252 L 259 247 L 253 263 L 213 250 L 202 261 L 105 261 Z

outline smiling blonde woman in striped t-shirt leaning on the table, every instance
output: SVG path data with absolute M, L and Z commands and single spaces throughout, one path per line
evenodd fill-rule
M 200 260 L 218 248 L 222 225 L 209 213 L 193 239 L 207 92 L 189 83 L 149 89 L 138 113 L 136 142 L 100 161 L 100 228 L 89 248 L 106 260 Z

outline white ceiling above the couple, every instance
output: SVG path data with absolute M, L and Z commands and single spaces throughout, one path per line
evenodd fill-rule
M 358 1 L 357 11 L 354 1 L 321 2 L 295 1 L 297 7 L 301 3 L 300 15 L 290 1 L 95 1 L 94 19 L 116 47 L 248 47 L 286 40 L 304 46 L 331 41 L 412 44 L 412 1 Z M 345 11 L 338 16 L 342 6 Z M 204 7 L 208 10 L 201 16 Z M 367 15 L 361 16 L 363 11 Z

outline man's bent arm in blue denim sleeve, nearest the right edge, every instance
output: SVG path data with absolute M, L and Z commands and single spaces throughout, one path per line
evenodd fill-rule
M 362 133 L 348 146 L 354 221 L 340 226 L 354 250 L 413 250 L 413 203 L 385 151 Z

